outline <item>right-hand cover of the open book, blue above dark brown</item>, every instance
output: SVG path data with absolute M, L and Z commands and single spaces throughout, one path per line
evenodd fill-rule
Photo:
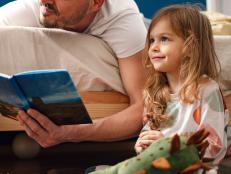
M 66 70 L 31 71 L 14 75 L 14 79 L 30 108 L 40 111 L 55 124 L 92 122 Z

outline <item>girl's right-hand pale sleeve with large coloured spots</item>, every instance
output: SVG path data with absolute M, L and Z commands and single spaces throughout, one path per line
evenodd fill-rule
M 218 84 L 208 86 L 203 92 L 201 127 L 210 132 L 207 140 L 209 147 L 206 157 L 215 158 L 219 162 L 225 155 L 227 135 L 225 128 L 228 123 L 228 111 Z

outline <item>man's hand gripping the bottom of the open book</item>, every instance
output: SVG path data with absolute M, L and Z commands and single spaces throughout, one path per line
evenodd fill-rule
M 17 119 L 27 135 L 42 147 L 50 147 L 64 141 L 65 126 L 57 126 L 34 109 L 19 111 Z

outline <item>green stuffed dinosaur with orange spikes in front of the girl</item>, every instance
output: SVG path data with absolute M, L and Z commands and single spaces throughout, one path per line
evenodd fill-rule
M 136 157 L 91 174 L 191 174 L 198 169 L 208 170 L 203 156 L 209 133 L 204 129 L 191 137 L 175 135 L 162 138 Z

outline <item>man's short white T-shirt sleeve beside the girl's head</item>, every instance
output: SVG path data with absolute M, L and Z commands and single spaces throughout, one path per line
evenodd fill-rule
M 117 19 L 102 34 L 102 38 L 118 58 L 125 58 L 144 49 L 146 34 L 142 16 L 133 13 Z

